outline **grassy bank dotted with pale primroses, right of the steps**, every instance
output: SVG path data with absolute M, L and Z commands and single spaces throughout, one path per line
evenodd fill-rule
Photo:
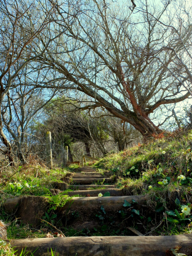
M 147 205 L 156 221 L 165 220 L 151 232 L 152 235 L 190 233 L 192 226 L 192 131 L 167 134 L 152 139 L 118 154 L 109 154 L 94 164 L 116 175 L 116 187 L 128 195 L 148 195 Z M 183 175 L 184 179 L 180 179 Z M 165 182 L 165 184 L 163 184 Z M 180 205 L 175 204 L 175 198 Z M 161 204 L 160 209 L 156 209 Z M 187 205 L 190 214 L 181 220 L 167 212 L 182 213 L 181 206 Z M 184 217 L 183 217 L 184 218 Z M 156 222 L 156 226 L 158 226 Z M 155 226 L 154 225 L 154 226 Z M 150 222 L 148 223 L 150 227 Z

